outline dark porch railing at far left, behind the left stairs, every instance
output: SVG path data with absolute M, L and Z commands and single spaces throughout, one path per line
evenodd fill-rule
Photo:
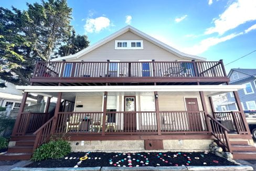
M 15 135 L 33 133 L 39 129 L 48 119 L 48 113 L 22 112 L 15 131 Z

